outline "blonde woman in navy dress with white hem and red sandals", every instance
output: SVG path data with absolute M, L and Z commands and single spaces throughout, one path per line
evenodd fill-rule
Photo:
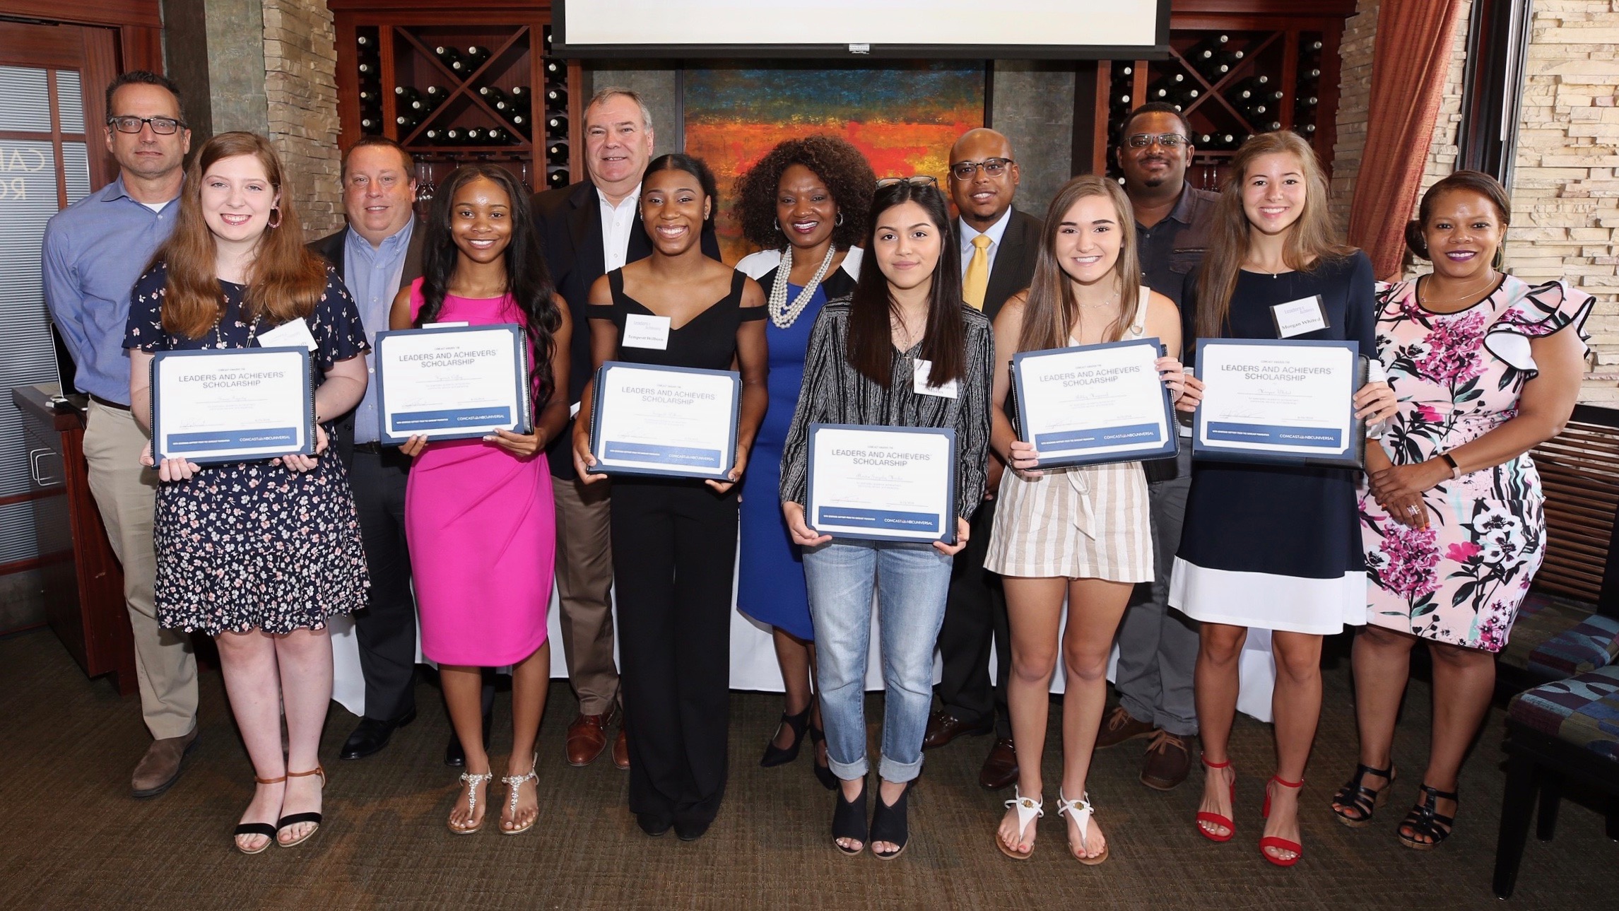
M 1358 341 L 1375 356 L 1371 261 L 1337 243 L 1326 180 L 1290 131 L 1263 133 L 1232 157 L 1209 228 L 1209 252 L 1182 319 L 1187 337 L 1277 338 L 1273 307 L 1316 296 L 1324 325 L 1294 340 Z M 1203 377 L 1208 380 L 1208 377 Z M 1188 385 L 1201 390 L 1201 383 Z M 1394 414 L 1386 383 L 1355 393 L 1357 414 Z M 1321 636 L 1366 620 L 1358 471 L 1198 461 L 1169 584 L 1169 604 L 1200 621 L 1196 705 L 1208 775 L 1198 832 L 1229 841 L 1235 772 L 1227 757 L 1237 710 L 1237 662 L 1248 628 L 1271 631 L 1276 655 L 1276 775 L 1266 785 L 1266 861 L 1290 867 L 1298 788 L 1321 715 Z M 1274 807 L 1274 812 L 1273 812 Z

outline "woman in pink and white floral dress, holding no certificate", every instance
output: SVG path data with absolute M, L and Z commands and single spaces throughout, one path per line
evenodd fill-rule
M 1353 654 L 1360 765 L 1332 812 L 1358 828 L 1386 798 L 1410 650 L 1425 641 L 1433 738 L 1417 806 L 1399 827 L 1417 850 L 1451 833 L 1496 652 L 1546 552 L 1528 450 L 1562 430 L 1583 371 L 1591 296 L 1496 270 L 1509 212 L 1488 175 L 1439 181 L 1405 231 L 1433 273 L 1378 293 L 1378 356 L 1400 409 L 1383 445 L 1366 450 L 1368 625 Z

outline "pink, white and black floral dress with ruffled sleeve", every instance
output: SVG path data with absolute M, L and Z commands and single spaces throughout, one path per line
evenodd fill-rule
M 1591 296 L 1562 282 L 1506 275 L 1483 301 L 1436 314 L 1417 282 L 1378 286 L 1378 358 L 1399 398 L 1383 435 L 1394 464 L 1417 464 L 1517 414 L 1535 377 L 1530 338 L 1582 325 Z M 1528 453 L 1446 479 L 1426 494 L 1428 528 L 1410 529 L 1360 497 L 1370 623 L 1499 652 L 1546 553 L 1545 498 Z

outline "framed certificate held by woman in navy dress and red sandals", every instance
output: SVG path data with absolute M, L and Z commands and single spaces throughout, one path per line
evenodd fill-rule
M 1192 456 L 1360 468 L 1366 426 L 1353 396 L 1365 375 L 1355 341 L 1200 338 Z

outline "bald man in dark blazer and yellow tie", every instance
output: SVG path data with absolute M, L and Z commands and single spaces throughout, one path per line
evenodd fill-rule
M 1012 142 L 994 129 L 968 129 L 950 147 L 950 199 L 955 201 L 955 243 L 962 249 L 962 296 L 994 319 L 1007 298 L 1028 288 L 1035 275 L 1043 222 L 1012 207 L 1018 167 Z M 955 555 L 950 595 L 939 629 L 944 675 L 942 707 L 928 718 L 924 748 L 944 746 L 962 735 L 996 733 L 978 773 L 989 790 L 1017 780 L 1012 717 L 1005 681 L 1012 670 L 1012 641 L 1001 578 L 984 570 L 989 532 L 996 521 L 996 492 L 1005 466 L 989 455 L 989 485 L 973 515 L 967 547 Z M 996 647 L 996 681 L 989 683 L 989 644 Z

